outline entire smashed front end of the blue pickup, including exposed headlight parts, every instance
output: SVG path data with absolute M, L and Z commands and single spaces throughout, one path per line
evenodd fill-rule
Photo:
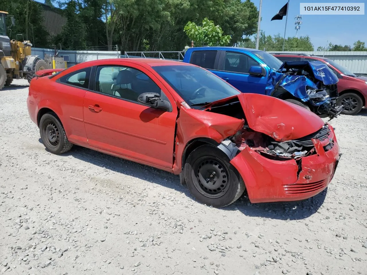
M 331 120 L 342 111 L 342 106 L 337 105 L 338 81 L 333 71 L 321 62 L 284 62 L 278 71 L 270 71 L 266 95 L 287 99 L 290 93 L 314 113 Z

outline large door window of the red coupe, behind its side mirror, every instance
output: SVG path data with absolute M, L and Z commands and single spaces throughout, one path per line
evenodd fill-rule
M 94 90 L 106 95 L 138 102 L 145 92 L 161 94 L 158 85 L 145 73 L 124 66 L 98 66 Z

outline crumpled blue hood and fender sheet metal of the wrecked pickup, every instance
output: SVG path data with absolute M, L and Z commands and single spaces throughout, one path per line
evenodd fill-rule
M 277 88 L 283 87 L 296 98 L 308 102 L 310 100 L 308 89 L 322 90 L 325 86 L 336 84 L 338 81 L 333 71 L 319 61 L 284 62 L 279 70 L 270 69 L 265 94 L 272 95 Z M 312 103 L 318 106 L 335 97 L 338 98 L 337 92 L 333 95 L 329 93 L 324 100 Z

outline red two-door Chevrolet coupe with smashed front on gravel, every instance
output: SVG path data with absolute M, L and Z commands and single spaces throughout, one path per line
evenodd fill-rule
M 215 207 L 245 190 L 251 202 L 306 199 L 334 176 L 340 154 L 329 124 L 201 67 L 133 58 L 52 71 L 37 72 L 27 99 L 51 153 L 77 144 L 180 174 Z

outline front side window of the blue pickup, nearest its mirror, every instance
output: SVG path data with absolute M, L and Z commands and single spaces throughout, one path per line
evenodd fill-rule
M 251 66 L 260 66 L 257 61 L 240 52 L 226 52 L 224 70 L 235 73 L 248 73 Z

